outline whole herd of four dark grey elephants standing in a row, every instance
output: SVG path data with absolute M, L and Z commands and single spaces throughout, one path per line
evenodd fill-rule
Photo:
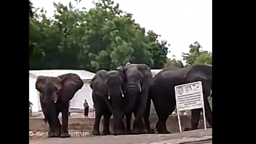
M 109 135 L 109 121 L 113 116 L 113 135 L 170 133 L 166 120 L 175 110 L 174 86 L 202 81 L 205 116 L 212 127 L 212 111 L 207 97 L 212 91 L 212 66 L 197 64 L 182 68 L 161 70 L 155 77 L 150 68 L 142 63 L 126 63 L 115 70 L 99 70 L 90 82 L 95 106 L 93 135 Z M 68 134 L 69 101 L 82 88 L 83 81 L 76 74 L 58 77 L 38 76 L 36 89 L 40 92 L 40 104 L 45 120 L 49 123 L 48 137 L 70 137 Z M 150 128 L 151 100 L 158 115 L 155 129 Z M 192 110 L 191 130 L 198 128 L 202 109 Z M 58 119 L 62 113 L 62 125 Z M 135 116 L 131 131 L 131 117 Z M 103 116 L 103 131 L 99 124 Z M 126 125 L 123 118 L 126 117 Z

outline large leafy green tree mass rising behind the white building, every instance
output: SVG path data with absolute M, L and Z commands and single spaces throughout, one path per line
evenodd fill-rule
M 145 32 L 131 13 L 111 0 L 95 3 L 95 8 L 75 9 L 71 3 L 54 3 L 54 19 L 43 9 L 32 19 L 33 43 L 44 56 L 32 63 L 33 69 L 110 70 L 126 62 L 163 67 L 168 53 L 160 35 Z M 39 21 L 40 19 L 40 21 Z

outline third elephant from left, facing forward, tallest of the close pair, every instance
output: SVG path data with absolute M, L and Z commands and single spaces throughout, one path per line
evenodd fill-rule
M 153 79 L 150 68 L 142 63 L 126 63 L 125 67 L 119 66 L 117 69 L 122 70 L 125 74 L 123 113 L 126 116 L 126 131 L 131 133 L 131 116 L 134 113 L 133 133 L 147 133 L 143 115 L 146 109 L 148 89 Z M 145 120 L 145 123 L 149 124 L 148 119 Z

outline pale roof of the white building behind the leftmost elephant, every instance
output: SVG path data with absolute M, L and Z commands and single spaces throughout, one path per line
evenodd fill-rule
M 86 71 L 86 70 L 30 70 L 30 75 L 32 76 L 50 76 L 57 77 L 59 75 L 74 73 L 77 74 L 82 80 L 91 80 L 95 73 Z

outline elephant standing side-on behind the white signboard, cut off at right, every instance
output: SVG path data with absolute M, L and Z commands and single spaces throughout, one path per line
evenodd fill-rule
M 212 126 L 212 111 L 207 100 L 212 89 L 212 66 L 196 64 L 176 69 L 164 69 L 154 77 L 149 88 L 146 112 L 150 111 L 150 99 L 152 99 L 158 115 L 158 122 L 156 123 L 155 129 L 157 133 L 170 133 L 166 129 L 166 120 L 175 110 L 176 106 L 174 86 L 195 81 L 202 81 L 205 116 L 208 123 Z M 192 110 L 191 130 L 198 128 L 201 111 L 203 111 L 202 108 Z M 148 117 L 145 117 L 145 119 L 148 119 Z M 149 125 L 147 127 L 149 127 Z

